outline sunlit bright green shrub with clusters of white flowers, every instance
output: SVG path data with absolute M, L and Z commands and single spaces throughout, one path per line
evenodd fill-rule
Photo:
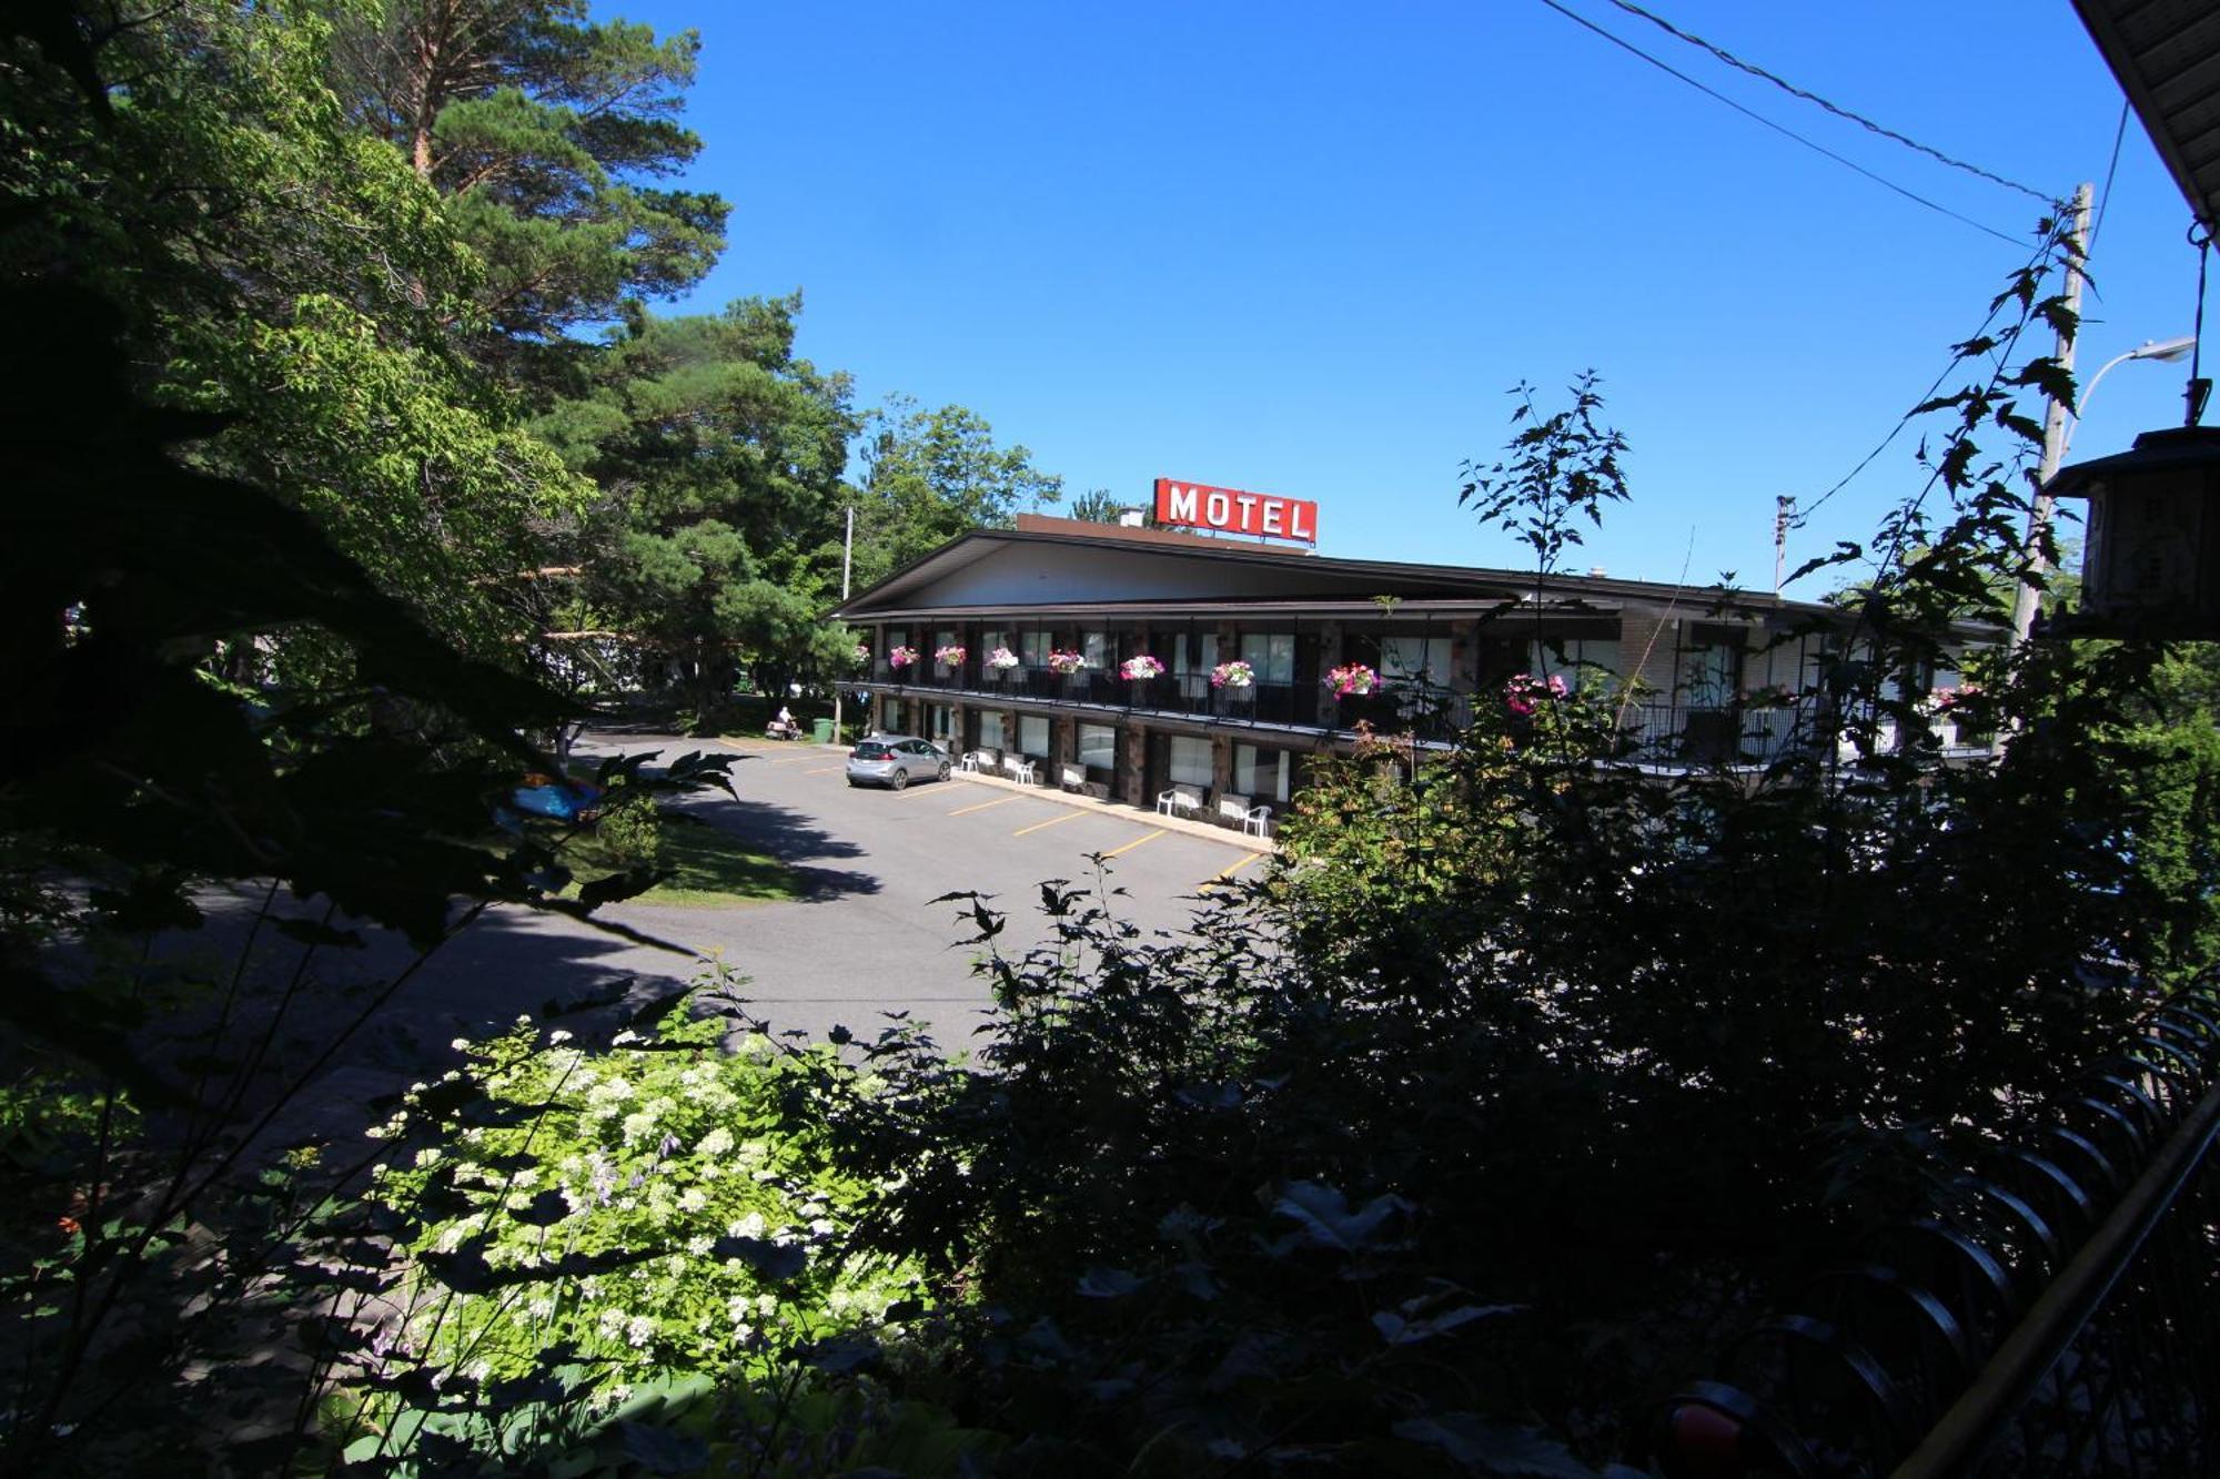
M 579 1366 L 604 1397 L 664 1370 L 768 1377 L 841 1330 L 901 1335 L 910 1264 L 848 1252 L 877 1188 L 841 1175 L 799 1093 L 830 1048 L 726 1050 L 724 1017 L 588 1053 L 528 1019 L 462 1044 L 382 1137 L 375 1199 L 413 1228 L 389 1337 L 477 1384 Z

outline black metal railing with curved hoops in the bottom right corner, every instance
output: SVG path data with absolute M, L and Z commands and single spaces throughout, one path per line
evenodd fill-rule
M 1665 1475 L 2220 1475 L 2220 986 L 1661 1412 Z

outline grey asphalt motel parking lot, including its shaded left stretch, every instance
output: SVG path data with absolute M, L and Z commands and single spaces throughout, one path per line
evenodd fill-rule
M 306 1088 L 282 1130 L 293 1137 L 362 1133 L 377 1095 L 455 1066 L 451 1039 L 497 1033 L 517 1015 L 546 1019 L 595 999 L 639 999 L 666 984 L 695 979 L 706 957 L 737 975 L 755 1013 L 773 1030 L 824 1037 L 835 1024 L 870 1039 L 884 1013 L 928 1022 L 948 1048 L 972 1044 L 988 1006 L 966 944 L 975 926 L 937 895 L 977 888 L 995 895 L 1008 926 L 1006 955 L 1050 937 L 1039 913 L 1041 879 L 1094 879 L 1090 853 L 1101 853 L 1110 910 L 1146 930 L 1181 933 L 1201 908 L 1205 886 L 1257 877 L 1261 855 L 1237 835 L 1159 824 L 1130 808 L 1072 806 L 1048 791 L 1006 782 L 915 782 L 906 791 L 852 791 L 841 771 L 846 751 L 813 744 L 704 746 L 668 735 L 588 735 L 584 757 L 659 751 L 673 759 L 695 748 L 733 755 L 739 799 L 695 799 L 706 822 L 730 828 L 757 851 L 784 859 L 804 884 L 799 899 L 733 908 L 664 908 L 615 904 L 599 917 L 633 930 L 595 928 L 555 913 L 495 908 L 422 962 L 393 930 L 364 930 L 353 950 L 304 950 L 291 939 L 253 930 L 269 902 L 255 886 L 211 891 L 202 904 L 224 959 L 251 959 L 242 1030 L 269 1030 L 273 1048 L 258 1093 L 295 1070 Z M 1194 826 L 1194 824 L 1188 824 Z M 275 899 L 280 915 L 317 919 L 315 899 Z M 666 946 L 644 944 L 653 937 Z M 324 990 L 295 999 L 297 975 Z M 324 1044 L 384 982 L 404 973 L 404 988 L 329 1057 Z M 564 1026 L 586 1035 L 608 1030 L 610 1013 L 584 1010 Z M 595 1026 L 599 1024 L 599 1026 Z M 377 1113 L 382 1117 L 382 1110 Z

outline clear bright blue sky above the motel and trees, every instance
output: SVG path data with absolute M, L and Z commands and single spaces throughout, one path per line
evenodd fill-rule
M 2031 240 L 2042 207 L 1563 0 L 1903 189 Z M 1538 0 L 682 4 L 690 182 L 735 207 L 684 304 L 804 291 L 801 353 L 986 415 L 1072 491 L 1154 477 L 1321 504 L 1321 553 L 1521 566 L 1456 506 L 1505 391 L 1583 369 L 1634 497 L 1576 564 L 1772 584 L 1809 506 L 1943 371 L 2027 258 L 1780 138 Z M 2065 195 L 2120 91 L 2067 0 L 1656 0 L 1925 144 Z M 2091 253 L 2085 375 L 2189 333 L 2189 211 L 2131 118 Z M 2073 455 L 2180 420 L 2187 366 L 2105 378 Z M 1865 542 L 1907 433 L 1792 537 Z M 1818 577 L 1792 595 L 1818 595 Z

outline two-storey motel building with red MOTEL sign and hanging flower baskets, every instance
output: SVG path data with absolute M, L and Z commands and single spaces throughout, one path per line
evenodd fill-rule
M 1447 744 L 1518 673 L 1641 680 L 1625 726 L 1658 773 L 1763 764 L 1845 631 L 1832 606 L 1738 593 L 1721 615 L 1601 571 L 1328 560 L 1316 504 L 1234 489 L 1163 480 L 1157 524 L 950 540 L 833 613 L 868 633 L 844 688 L 966 766 L 1263 831 L 1359 724 Z

